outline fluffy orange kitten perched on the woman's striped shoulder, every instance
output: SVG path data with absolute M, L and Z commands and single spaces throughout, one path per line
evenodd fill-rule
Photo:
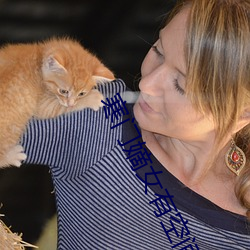
M 97 82 L 114 79 L 94 55 L 70 39 L 0 49 L 0 168 L 26 158 L 18 140 L 31 117 L 101 106 Z

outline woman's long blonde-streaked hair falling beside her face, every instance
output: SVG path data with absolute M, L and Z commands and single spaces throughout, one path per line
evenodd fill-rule
M 185 7 L 186 91 L 199 111 L 212 114 L 218 146 L 247 108 L 250 115 L 250 0 L 182 0 L 168 21 Z M 235 193 L 250 218 L 250 125 L 232 136 L 247 157 Z

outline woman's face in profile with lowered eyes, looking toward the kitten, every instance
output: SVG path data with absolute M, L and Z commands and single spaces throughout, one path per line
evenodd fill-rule
M 185 94 L 188 13 L 186 8 L 175 16 L 146 55 L 134 114 L 144 130 L 181 140 L 206 140 L 214 135 L 214 123 L 197 112 Z

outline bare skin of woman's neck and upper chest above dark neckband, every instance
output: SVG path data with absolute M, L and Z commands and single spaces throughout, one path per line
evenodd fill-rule
M 209 167 L 210 145 L 204 144 L 199 150 L 198 143 L 189 144 L 145 130 L 142 137 L 157 160 L 184 185 L 225 210 L 246 214 L 234 193 L 236 176 L 224 163 L 226 147 Z

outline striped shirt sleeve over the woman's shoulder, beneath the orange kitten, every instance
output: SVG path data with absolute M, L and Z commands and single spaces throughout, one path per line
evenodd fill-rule
M 121 123 L 123 114 L 115 110 L 113 104 L 120 101 L 118 96 L 122 98 L 126 85 L 118 79 L 97 87 L 104 96 L 103 107 L 98 111 L 86 108 L 52 119 L 30 120 L 21 138 L 21 145 L 28 155 L 27 162 L 61 165 L 59 162 L 63 159 L 72 165 L 74 158 L 77 166 L 82 157 L 89 157 L 93 163 L 115 147 L 122 128 L 114 129 L 114 125 Z M 79 155 L 81 157 L 77 157 Z

